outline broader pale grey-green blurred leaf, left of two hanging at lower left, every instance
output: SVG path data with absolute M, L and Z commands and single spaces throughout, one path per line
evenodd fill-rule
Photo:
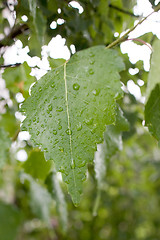
M 30 183 L 30 206 L 32 212 L 47 224 L 50 224 L 51 196 L 49 192 L 28 174 L 23 173 L 21 180 Z

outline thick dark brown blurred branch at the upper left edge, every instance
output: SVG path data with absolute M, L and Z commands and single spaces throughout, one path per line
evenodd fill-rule
M 14 38 L 27 31 L 29 27 L 27 24 L 15 26 L 12 31 L 0 41 L 0 48 L 10 46 L 14 42 Z

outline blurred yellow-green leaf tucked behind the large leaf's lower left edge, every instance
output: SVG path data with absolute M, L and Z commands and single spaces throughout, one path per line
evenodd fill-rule
M 26 173 L 30 174 L 35 179 L 45 180 L 46 176 L 52 168 L 52 162 L 44 159 L 42 152 L 32 151 L 29 158 L 23 164 Z

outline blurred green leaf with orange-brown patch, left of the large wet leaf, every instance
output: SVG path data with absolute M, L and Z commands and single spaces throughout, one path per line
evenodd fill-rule
M 30 75 L 31 68 L 26 62 L 15 68 L 7 68 L 3 73 L 6 87 L 13 93 L 21 92 L 24 98 L 29 96 L 29 87 L 35 82 Z

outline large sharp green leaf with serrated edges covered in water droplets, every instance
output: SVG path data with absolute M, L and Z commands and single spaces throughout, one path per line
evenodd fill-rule
M 96 46 L 73 55 L 42 77 L 21 111 L 34 146 L 54 160 L 75 205 L 79 204 L 86 165 L 107 124 L 115 121 L 115 101 L 122 97 L 117 52 Z

